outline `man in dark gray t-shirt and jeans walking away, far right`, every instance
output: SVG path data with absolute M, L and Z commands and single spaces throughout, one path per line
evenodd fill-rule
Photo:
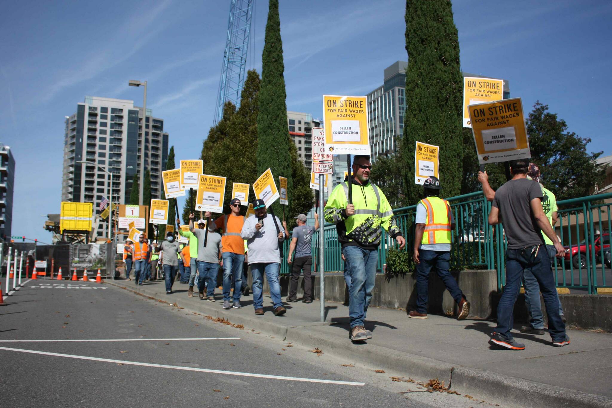
M 524 344 L 512 338 L 513 309 L 523 279 L 529 270 L 540 285 L 540 292 L 548 314 L 548 332 L 553 346 L 570 344 L 565 324 L 559 316 L 559 299 L 554 286 L 550 258 L 540 230 L 548 236 L 557 250 L 556 256 L 564 256 L 565 249 L 554 233 L 542 210 L 542 190 L 537 182 L 527 179 L 529 160 L 510 161 L 512 180 L 499 187 L 493 198 L 489 224 L 503 221 L 508 239 L 506 250 L 506 285 L 499 299 L 497 327 L 490 342 L 510 350 L 524 350 Z

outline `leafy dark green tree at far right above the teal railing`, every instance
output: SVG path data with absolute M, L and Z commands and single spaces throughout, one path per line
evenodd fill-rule
M 542 184 L 558 201 L 591 195 L 595 185 L 602 187 L 605 168 L 597 166 L 602 152 L 587 151 L 590 138 L 567 131 L 567 124 L 548 105 L 535 102 L 526 121 L 532 161 L 540 167 Z

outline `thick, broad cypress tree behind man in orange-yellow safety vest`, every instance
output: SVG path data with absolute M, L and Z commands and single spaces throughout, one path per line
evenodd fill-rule
M 444 196 L 460 193 L 463 159 L 463 76 L 459 39 L 449 0 L 406 1 L 406 114 L 404 182 L 408 202 L 422 198 L 414 183 L 415 141 L 440 146 L 439 175 Z

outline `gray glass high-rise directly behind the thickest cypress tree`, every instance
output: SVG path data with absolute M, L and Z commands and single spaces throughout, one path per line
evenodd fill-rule
M 383 85 L 368 96 L 368 128 L 372 161 L 378 156 L 397 152 L 397 140 L 404 133 L 406 112 L 406 68 L 408 61 L 396 61 L 384 70 Z M 464 72 L 463 76 L 486 76 Z M 504 80 L 504 99 L 510 97 L 510 86 Z

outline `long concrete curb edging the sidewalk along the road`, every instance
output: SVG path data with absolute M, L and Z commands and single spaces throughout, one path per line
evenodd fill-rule
M 231 313 L 231 311 L 223 310 L 218 308 L 218 306 L 214 307 L 203 301 L 201 302 L 202 304 L 183 303 L 180 299 L 176 298 L 176 295 L 166 295 L 165 292 L 147 289 L 146 286 L 132 288 L 111 281 L 105 281 L 105 283 L 135 294 L 151 297 L 155 300 L 177 304 L 184 307 L 187 311 L 212 317 L 223 317 L 233 324 L 256 328 L 266 334 L 285 339 L 286 341 L 312 344 L 313 347 L 319 347 L 324 352 L 347 358 L 349 362 L 358 361 L 359 363 L 365 363 L 379 369 L 395 371 L 406 377 L 416 377 L 417 379 L 438 378 L 440 381 L 444 380 L 445 384 L 450 384 L 452 389 L 459 393 L 468 394 L 479 399 L 502 401 L 504 406 L 534 408 L 612 407 L 612 398 L 606 396 L 554 387 L 553 385 L 476 368 L 455 367 L 441 360 L 396 351 L 387 347 L 376 346 L 375 344 L 368 344 L 367 346 L 356 345 L 355 347 L 359 347 L 356 349 L 351 347 L 352 344 L 349 342 L 348 336 L 329 335 L 312 330 L 313 325 L 324 325 L 325 323 L 308 326 L 286 326 L 266 321 L 259 316 L 244 316 Z M 283 319 L 283 317 L 280 319 Z

